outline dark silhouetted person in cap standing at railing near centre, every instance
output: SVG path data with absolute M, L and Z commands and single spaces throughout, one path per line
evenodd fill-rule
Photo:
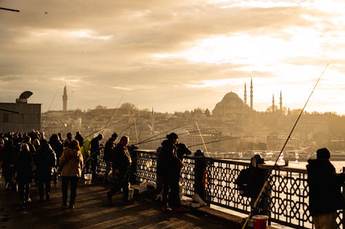
M 166 135 L 167 140 L 161 142 L 161 153 L 159 155 L 159 171 L 163 179 L 163 206 L 161 210 L 168 212 L 186 212 L 186 208 L 181 207 L 179 199 L 179 177 L 184 164 L 177 157 L 176 133 Z

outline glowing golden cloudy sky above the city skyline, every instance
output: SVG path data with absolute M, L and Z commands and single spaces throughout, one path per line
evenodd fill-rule
M 345 1 L 0 0 L 0 102 L 41 110 L 212 111 L 235 92 L 253 108 L 345 114 Z M 326 67 L 327 66 L 327 67 Z M 325 69 L 326 68 L 326 69 Z M 324 74 L 322 74 L 324 72 Z

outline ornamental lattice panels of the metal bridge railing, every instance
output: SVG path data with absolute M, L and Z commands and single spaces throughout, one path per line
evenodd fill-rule
M 144 179 L 157 182 L 157 153 L 155 151 L 135 151 L 136 181 Z M 237 160 L 218 160 L 210 157 L 185 157 L 181 171 L 181 183 L 184 195 L 192 197 L 197 186 L 206 177 L 204 194 L 208 205 L 235 210 L 248 214 L 250 198 L 239 195 L 235 179 L 242 169 L 249 166 L 248 162 Z M 204 168 L 204 174 L 200 173 Z M 270 166 L 260 165 L 270 169 Z M 291 228 L 314 228 L 312 217 L 308 212 L 308 184 L 305 169 L 280 166 L 272 171 L 270 179 L 269 212 L 270 222 L 279 223 Z M 344 186 L 342 187 L 344 190 Z M 338 210 L 337 223 L 344 229 L 344 211 Z

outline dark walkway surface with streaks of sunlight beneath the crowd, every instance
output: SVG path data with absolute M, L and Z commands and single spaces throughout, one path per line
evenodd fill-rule
M 135 195 L 134 203 L 121 204 L 121 193 L 106 198 L 111 184 L 79 182 L 75 209 L 61 206 L 61 187 L 52 187 L 50 201 L 39 202 L 38 188 L 30 192 L 32 202 L 23 210 L 18 193 L 0 190 L 0 228 L 239 228 L 236 223 L 202 210 L 163 213 L 155 195 Z M 69 194 L 69 193 L 68 193 Z

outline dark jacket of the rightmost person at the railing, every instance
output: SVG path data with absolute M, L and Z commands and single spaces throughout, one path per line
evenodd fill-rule
M 306 168 L 311 215 L 322 215 L 343 208 L 340 190 L 342 180 L 335 173 L 333 164 L 329 160 L 311 159 Z

